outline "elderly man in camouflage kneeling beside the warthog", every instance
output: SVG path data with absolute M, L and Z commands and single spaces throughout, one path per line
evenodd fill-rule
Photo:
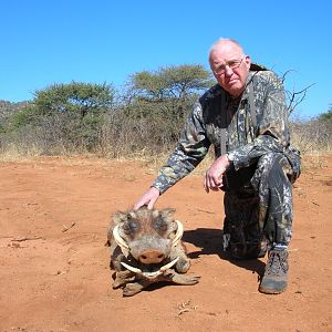
M 188 175 L 215 147 L 204 187 L 224 190 L 224 247 L 234 258 L 268 251 L 263 293 L 281 293 L 288 282 L 292 236 L 292 188 L 300 154 L 290 146 L 288 110 L 277 75 L 251 63 L 241 45 L 220 39 L 209 52 L 218 82 L 193 106 L 178 146 L 134 208 L 152 208 L 159 195 Z

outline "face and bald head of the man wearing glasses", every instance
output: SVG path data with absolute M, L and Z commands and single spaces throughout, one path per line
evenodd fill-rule
M 250 56 L 229 41 L 220 42 L 211 51 L 210 68 L 218 83 L 232 96 L 239 96 L 245 87 L 250 69 Z

